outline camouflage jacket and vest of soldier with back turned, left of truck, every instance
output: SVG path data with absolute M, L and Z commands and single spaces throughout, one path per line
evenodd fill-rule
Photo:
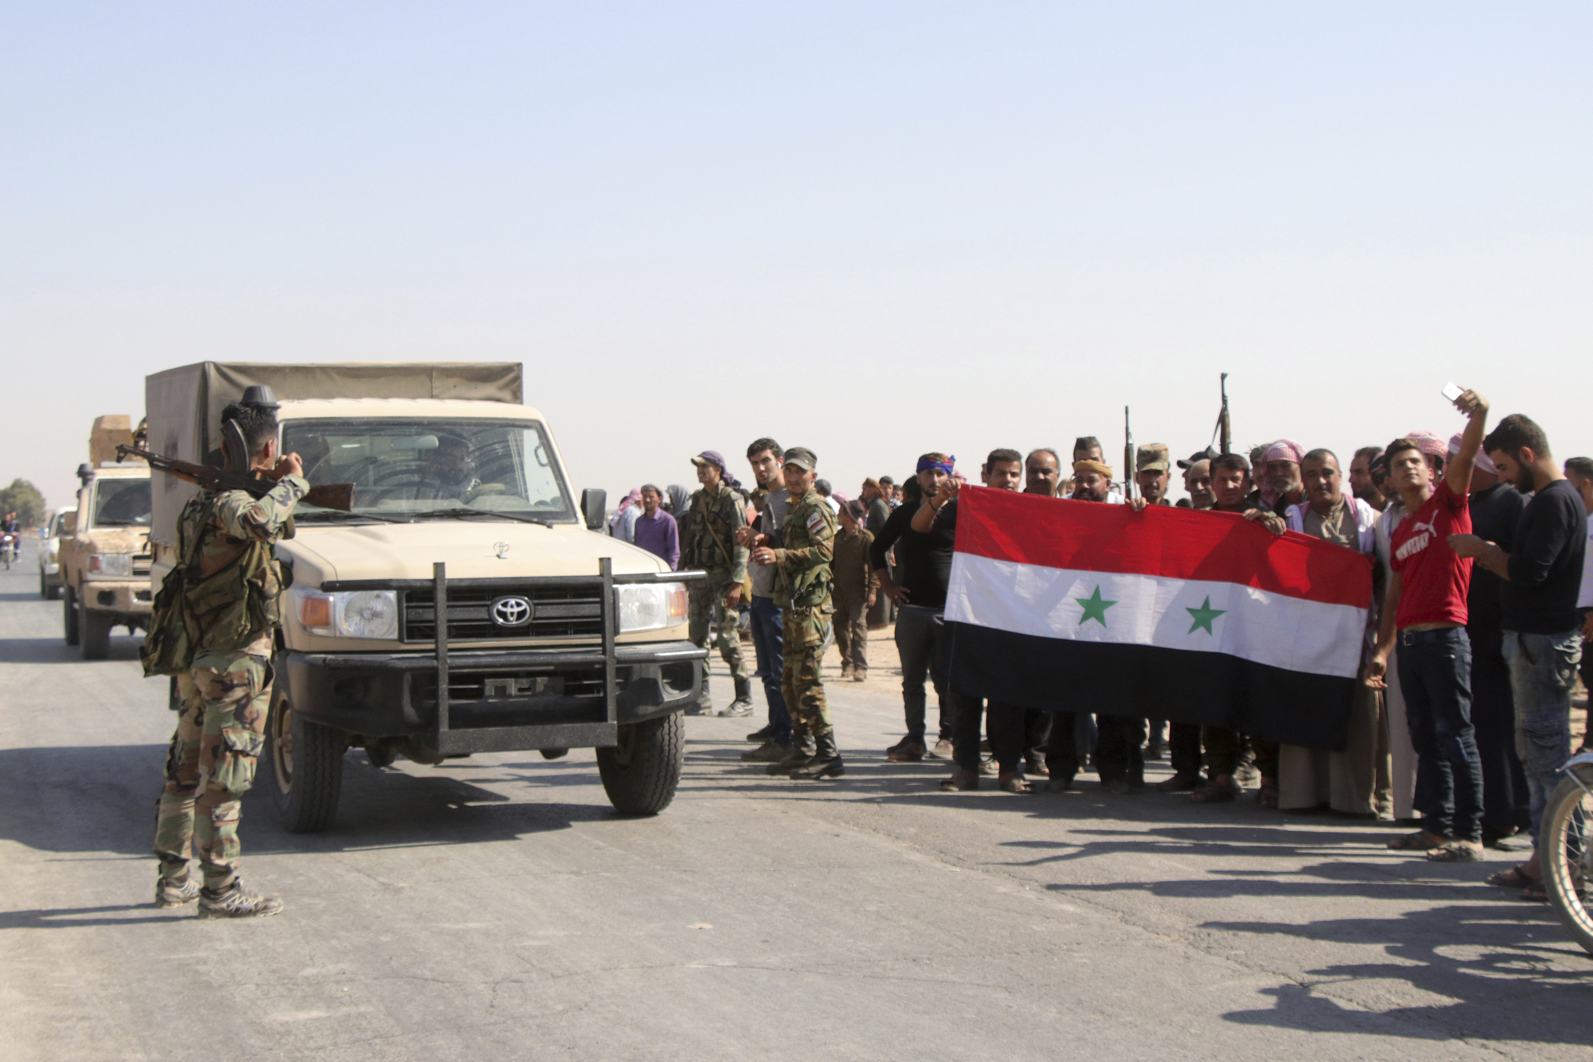
M 276 490 L 204 490 L 177 517 L 178 557 L 190 556 L 188 607 L 199 629 L 198 653 L 271 653 L 287 584 L 272 543 L 292 537 L 288 517 L 309 490 L 303 476 L 284 476 Z M 284 533 L 287 532 L 287 533 Z

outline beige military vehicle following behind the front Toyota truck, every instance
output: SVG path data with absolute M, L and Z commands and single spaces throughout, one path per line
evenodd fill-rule
M 131 634 L 150 621 L 150 468 L 118 462 L 118 443 L 132 443 L 132 417 L 96 417 L 89 460 L 78 465 L 78 510 L 56 554 L 62 634 L 86 661 L 110 654 L 115 627 Z

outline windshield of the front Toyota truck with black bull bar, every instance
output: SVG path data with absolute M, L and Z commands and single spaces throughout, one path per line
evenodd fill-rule
M 526 420 L 288 420 L 282 452 L 311 484 L 352 482 L 355 513 L 472 508 L 573 521 L 542 425 Z M 299 503 L 303 517 L 315 506 Z

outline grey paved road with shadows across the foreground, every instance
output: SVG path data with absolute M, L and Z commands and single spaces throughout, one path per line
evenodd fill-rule
M 1251 802 L 943 795 L 897 702 L 836 688 L 844 780 L 688 720 L 652 820 L 589 752 L 374 771 L 331 833 L 245 802 L 284 916 L 148 904 L 170 732 L 135 643 L 86 664 L 0 573 L 0 1057 L 1587 1059 L 1593 960 L 1550 912 Z M 1493 853 L 1496 866 L 1507 858 Z M 1494 869 L 1491 866 L 1488 869 Z

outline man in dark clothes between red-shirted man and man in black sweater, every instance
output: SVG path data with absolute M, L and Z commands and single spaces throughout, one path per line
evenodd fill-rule
M 1451 455 L 1459 452 L 1459 433 L 1450 439 Z M 1525 510 L 1521 492 L 1499 482 L 1493 459 L 1478 454 L 1472 467 L 1472 533 L 1509 552 Z M 1502 583 L 1497 575 L 1474 564 L 1466 595 L 1466 637 L 1472 643 L 1472 726 L 1483 761 L 1483 844 L 1489 845 L 1528 826 L 1526 774 L 1515 753 L 1515 697 L 1510 694 L 1510 666 L 1504 659 Z

